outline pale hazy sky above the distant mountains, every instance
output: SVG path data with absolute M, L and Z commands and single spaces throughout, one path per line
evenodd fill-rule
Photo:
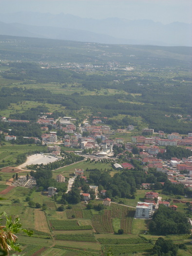
M 192 0 L 0 0 L 0 13 L 19 11 L 192 23 Z

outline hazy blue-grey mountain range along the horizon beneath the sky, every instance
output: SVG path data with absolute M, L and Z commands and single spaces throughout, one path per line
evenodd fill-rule
M 0 14 L 0 34 L 110 44 L 192 46 L 192 24 L 152 20 L 86 19 L 70 14 Z

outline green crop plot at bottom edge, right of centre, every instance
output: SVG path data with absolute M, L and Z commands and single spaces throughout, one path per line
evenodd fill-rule
M 108 252 L 109 249 L 111 250 L 112 254 L 114 256 L 119 255 L 128 255 L 133 253 L 139 253 L 139 252 L 146 252 L 148 250 L 151 250 L 153 248 L 153 245 L 151 243 L 146 244 L 130 244 L 130 245 L 105 245 L 104 251 Z

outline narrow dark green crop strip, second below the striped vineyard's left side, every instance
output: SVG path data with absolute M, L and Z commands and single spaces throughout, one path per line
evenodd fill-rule
M 74 234 L 74 235 L 56 235 L 56 240 L 67 240 L 67 241 L 82 241 L 82 242 L 96 242 L 94 234 Z

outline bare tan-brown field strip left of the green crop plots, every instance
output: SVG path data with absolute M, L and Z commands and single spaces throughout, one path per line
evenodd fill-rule
M 34 218 L 35 218 L 35 229 L 45 232 L 45 233 L 50 233 L 48 224 L 47 224 L 47 219 L 45 217 L 45 214 L 43 211 L 39 209 L 34 210 Z

